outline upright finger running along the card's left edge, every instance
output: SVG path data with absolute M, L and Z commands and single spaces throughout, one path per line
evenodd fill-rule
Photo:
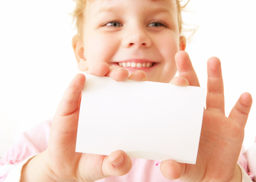
M 53 151 L 57 151 L 56 155 L 62 153 L 59 145 L 74 143 L 76 141 L 80 95 L 84 85 L 85 76 L 83 74 L 76 75 L 66 89 L 57 108 L 49 139 L 49 146 L 51 146 Z M 67 152 L 66 149 L 63 150 L 63 152 Z

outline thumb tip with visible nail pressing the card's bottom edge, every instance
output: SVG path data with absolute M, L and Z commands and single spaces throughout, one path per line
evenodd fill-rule
M 102 174 L 108 176 L 122 176 L 132 168 L 132 160 L 122 150 L 112 152 L 102 163 Z

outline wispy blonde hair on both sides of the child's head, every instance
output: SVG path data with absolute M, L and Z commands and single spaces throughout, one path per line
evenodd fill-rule
M 76 23 L 76 28 L 77 28 L 77 34 L 82 35 L 83 32 L 83 19 L 84 19 L 84 9 L 86 7 L 86 2 L 91 1 L 91 0 L 73 0 L 76 2 L 76 7 L 73 11 L 73 18 Z M 155 0 L 156 1 L 156 0 Z M 181 16 L 181 11 L 182 9 L 187 6 L 190 0 L 188 0 L 187 3 L 181 6 L 182 0 L 176 0 L 177 3 L 177 9 L 178 9 L 178 23 L 179 23 L 179 32 L 181 33 L 182 31 L 182 16 Z

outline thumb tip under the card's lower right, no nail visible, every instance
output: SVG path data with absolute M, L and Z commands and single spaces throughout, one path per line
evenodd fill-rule
M 167 179 L 179 179 L 185 173 L 185 164 L 166 160 L 161 163 L 160 170 Z

